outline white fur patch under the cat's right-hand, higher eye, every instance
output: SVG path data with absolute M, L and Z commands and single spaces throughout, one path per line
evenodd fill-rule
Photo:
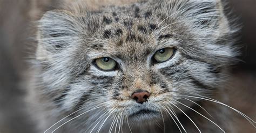
M 170 65 L 177 63 L 179 61 L 180 57 L 181 57 L 181 55 L 180 55 L 179 51 L 177 50 L 176 53 L 174 53 L 173 57 L 170 60 L 168 60 L 166 62 L 162 62 L 162 63 L 157 63 L 154 65 L 154 68 L 156 68 L 156 69 L 167 68 Z

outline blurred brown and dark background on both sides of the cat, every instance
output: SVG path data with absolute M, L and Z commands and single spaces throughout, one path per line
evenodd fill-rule
M 33 21 L 61 0 L 0 0 L 0 133 L 34 132 L 33 122 L 25 112 L 23 84 L 28 53 L 33 51 Z M 256 0 L 229 0 L 229 6 L 243 25 L 238 42 L 242 55 L 232 68 L 232 84 L 240 92 L 232 92 L 232 107 L 256 118 Z M 28 48 L 29 47 L 29 48 Z M 31 47 L 31 48 L 30 48 Z M 239 97 L 239 99 L 237 99 Z M 238 124 L 242 124 L 241 120 Z M 249 124 L 248 124 L 249 125 Z M 248 127 L 252 128 L 252 127 Z M 246 132 L 245 130 L 241 132 Z

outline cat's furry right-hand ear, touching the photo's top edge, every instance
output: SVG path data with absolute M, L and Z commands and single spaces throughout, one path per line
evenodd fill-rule
M 228 21 L 221 0 L 180 0 L 169 1 L 169 14 L 176 16 L 179 21 L 185 21 L 194 29 L 210 32 L 222 29 L 228 32 Z M 213 30 L 211 30 L 213 29 Z

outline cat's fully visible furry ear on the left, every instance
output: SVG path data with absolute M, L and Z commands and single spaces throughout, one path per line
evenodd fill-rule
M 48 11 L 38 21 L 37 60 L 50 60 L 56 52 L 76 40 L 75 17 L 68 11 Z

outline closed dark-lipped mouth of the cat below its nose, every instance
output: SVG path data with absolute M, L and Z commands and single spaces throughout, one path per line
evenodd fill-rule
M 129 117 L 134 117 L 134 118 L 143 118 L 143 117 L 152 117 L 154 115 L 157 115 L 158 112 L 155 111 L 155 110 L 149 110 L 149 109 L 142 109 L 142 110 L 139 110 L 138 112 L 134 112 L 134 113 L 131 113 L 129 115 Z

